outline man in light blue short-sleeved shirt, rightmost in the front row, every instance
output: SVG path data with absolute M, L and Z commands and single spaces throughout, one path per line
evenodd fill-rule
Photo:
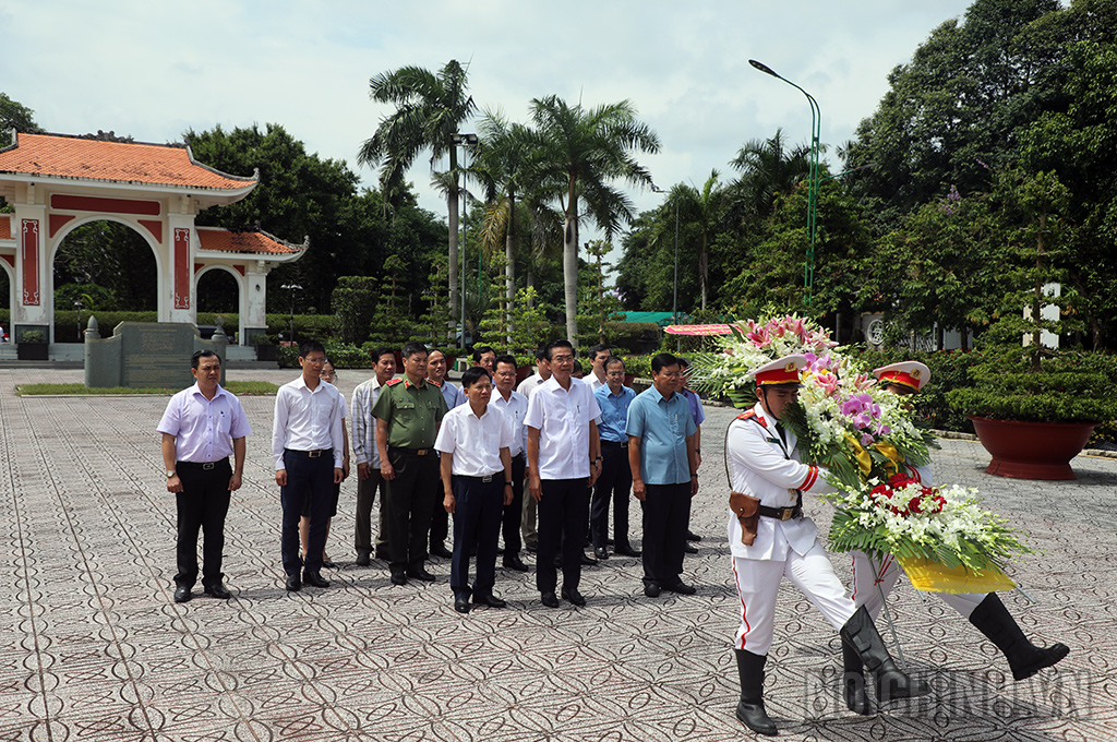
M 643 593 L 649 598 L 660 590 L 695 593 L 680 578 L 698 474 L 694 417 L 676 393 L 679 374 L 679 360 L 670 353 L 651 359 L 653 386 L 632 400 L 626 426 L 632 494 L 643 508 Z

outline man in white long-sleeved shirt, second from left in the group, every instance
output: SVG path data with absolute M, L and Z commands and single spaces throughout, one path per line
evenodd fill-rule
M 283 503 L 279 548 L 287 573 L 286 587 L 292 592 L 300 590 L 303 582 L 316 588 L 330 587 L 321 574 L 322 550 L 334 485 L 342 482 L 345 444 L 341 394 L 336 387 L 319 378 L 325 361 L 326 350 L 322 343 L 308 340 L 298 346 L 303 374 L 279 388 L 271 424 L 271 456 Z M 298 555 L 298 521 L 306 502 L 309 503 L 311 538 L 304 564 Z

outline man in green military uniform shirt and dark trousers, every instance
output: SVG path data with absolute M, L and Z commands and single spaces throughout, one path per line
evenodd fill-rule
M 432 581 L 427 571 L 430 516 L 439 492 L 435 438 L 448 408 L 438 382 L 427 379 L 427 348 L 403 346 L 403 378 L 384 386 L 372 408 L 380 474 L 388 489 L 388 553 L 392 584 Z

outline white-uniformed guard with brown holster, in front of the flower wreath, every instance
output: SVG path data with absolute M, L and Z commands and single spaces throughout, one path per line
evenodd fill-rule
M 763 687 L 784 577 L 839 629 L 842 646 L 876 673 L 878 697 L 930 692 L 892 662 L 868 612 L 847 597 L 814 522 L 803 514 L 803 493 L 832 492 L 828 472 L 803 464 L 795 435 L 780 425 L 784 409 L 799 397 L 799 374 L 805 364 L 803 355 L 789 355 L 755 369 L 750 375 L 755 378 L 758 401 L 726 431 L 726 469 L 736 513 L 729 519 L 728 535 L 742 607 L 735 641 L 741 677 L 737 719 L 766 735 L 777 733 L 764 708 Z

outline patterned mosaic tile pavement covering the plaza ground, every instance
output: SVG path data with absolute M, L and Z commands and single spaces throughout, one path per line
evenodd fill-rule
M 80 379 L 79 370 L 0 369 L 0 741 L 753 736 L 733 715 L 738 613 L 720 451 L 732 411 L 710 410 L 704 427 L 693 520 L 704 540 L 686 563 L 697 596 L 649 600 L 638 560 L 613 556 L 585 569 L 584 609 L 543 608 L 534 572 L 503 570 L 497 592 L 509 608 L 459 616 L 448 561 L 430 564 L 433 584 L 407 587 L 392 587 L 382 562 L 354 565 L 352 481 L 328 544 L 340 567 L 326 571 L 333 586 L 284 591 L 273 401 L 246 398 L 255 432 L 227 526 L 233 598 L 195 588 L 175 605 L 174 500 L 154 432 L 166 400 L 13 391 Z M 349 394 L 362 379 L 343 372 L 341 387 Z M 943 441 L 936 481 L 976 484 L 991 508 L 1031 533 L 1040 553 L 1013 575 L 1037 602 L 1003 598 L 1029 636 L 1062 640 L 1071 655 L 1013 683 L 968 622 L 905 583 L 889 607 L 909 669 L 934 692 L 859 717 L 837 694 L 836 632 L 785 584 L 765 689 L 782 738 L 1117 739 L 1117 462 L 1080 457 L 1079 478 L 1067 483 L 990 477 L 986 463 L 976 443 Z M 809 510 L 824 527 L 825 506 Z M 834 563 L 848 582 L 848 560 Z

